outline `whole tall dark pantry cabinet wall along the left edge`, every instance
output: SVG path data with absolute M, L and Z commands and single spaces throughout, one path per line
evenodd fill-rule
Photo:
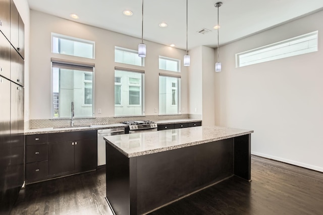
M 0 0 L 0 214 L 24 183 L 24 23 L 13 0 Z

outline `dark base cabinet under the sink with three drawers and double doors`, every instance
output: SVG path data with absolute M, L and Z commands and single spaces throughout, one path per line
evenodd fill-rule
M 97 131 L 26 135 L 26 182 L 95 170 Z

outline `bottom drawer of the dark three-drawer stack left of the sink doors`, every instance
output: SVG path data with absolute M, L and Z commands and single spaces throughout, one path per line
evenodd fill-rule
M 35 182 L 45 179 L 48 173 L 47 160 L 26 164 L 26 181 Z

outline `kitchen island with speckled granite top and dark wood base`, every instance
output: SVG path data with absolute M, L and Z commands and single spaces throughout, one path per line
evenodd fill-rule
M 106 199 L 145 214 L 234 175 L 250 177 L 252 130 L 193 127 L 104 137 Z

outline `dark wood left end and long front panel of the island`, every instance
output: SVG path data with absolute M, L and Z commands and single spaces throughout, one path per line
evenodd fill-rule
M 128 158 L 106 144 L 106 197 L 142 214 L 234 174 L 233 138 Z

